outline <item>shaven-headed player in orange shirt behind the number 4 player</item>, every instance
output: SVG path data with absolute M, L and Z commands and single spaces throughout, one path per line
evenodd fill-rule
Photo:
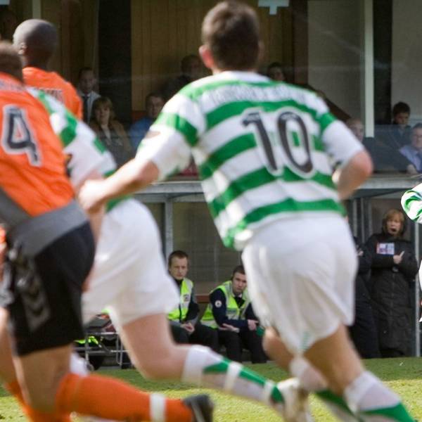
M 57 43 L 56 27 L 46 20 L 25 20 L 13 34 L 13 45 L 23 60 L 25 84 L 55 97 L 82 119 L 82 101 L 76 89 L 58 73 L 48 70 Z

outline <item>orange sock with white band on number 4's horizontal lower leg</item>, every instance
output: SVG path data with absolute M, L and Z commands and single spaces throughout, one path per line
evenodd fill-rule
M 191 409 L 177 399 L 136 390 L 127 383 L 105 376 L 65 375 L 56 395 L 56 408 L 69 414 L 98 416 L 118 421 L 191 422 Z

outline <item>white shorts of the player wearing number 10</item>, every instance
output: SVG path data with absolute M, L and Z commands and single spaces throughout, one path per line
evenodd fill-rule
M 252 236 L 242 258 L 255 312 L 293 354 L 352 324 L 357 252 L 342 217 L 279 219 Z

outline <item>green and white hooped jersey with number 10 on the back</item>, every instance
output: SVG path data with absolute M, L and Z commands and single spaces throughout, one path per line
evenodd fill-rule
M 343 213 L 333 164 L 362 148 L 316 94 L 252 72 L 222 72 L 168 101 L 136 159 L 155 162 L 164 179 L 192 154 L 219 234 L 240 250 L 272 220 Z

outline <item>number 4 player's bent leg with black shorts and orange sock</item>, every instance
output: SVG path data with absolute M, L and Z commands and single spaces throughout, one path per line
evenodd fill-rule
M 27 292 L 38 292 L 43 311 L 48 310 L 45 319 L 28 317 L 30 309 L 25 307 L 22 288 L 9 308 L 14 333 L 18 334 L 14 336 L 14 360 L 24 397 L 34 409 L 49 414 L 31 415 L 32 420 L 53 421 L 57 414 L 77 411 L 116 420 L 148 421 L 160 415 L 165 421 L 191 422 L 193 413 L 181 400 L 139 392 L 112 378 L 68 372 L 70 343 L 83 335 L 78 300 L 90 266 L 85 265 L 82 253 L 88 244 L 87 236 L 75 230 L 34 258 L 34 274 L 28 277 L 26 288 Z M 22 333 L 25 335 L 19 335 Z

